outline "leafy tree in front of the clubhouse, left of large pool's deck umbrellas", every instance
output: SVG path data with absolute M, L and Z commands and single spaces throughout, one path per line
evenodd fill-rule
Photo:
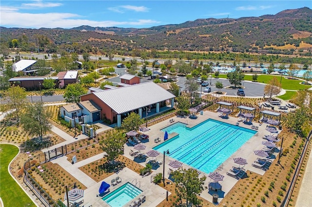
M 106 152 L 106 157 L 109 162 L 115 162 L 118 155 L 123 153 L 125 138 L 122 133 L 114 131 L 112 134 L 107 134 L 103 140 L 102 150 Z

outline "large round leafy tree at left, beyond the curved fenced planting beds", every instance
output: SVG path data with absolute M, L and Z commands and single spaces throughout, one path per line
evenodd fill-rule
M 51 130 L 49 118 L 51 113 L 46 110 L 41 102 L 27 104 L 26 110 L 21 116 L 20 123 L 22 128 L 31 136 L 39 136 L 42 140 L 43 135 Z

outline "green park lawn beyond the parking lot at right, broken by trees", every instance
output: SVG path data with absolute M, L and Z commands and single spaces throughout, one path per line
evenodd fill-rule
M 276 77 L 277 80 L 280 80 L 281 76 L 276 76 L 276 75 L 258 75 L 258 79 L 257 82 L 259 83 L 269 83 L 269 81 L 273 78 Z M 226 74 L 220 74 L 219 78 L 227 78 Z M 252 81 L 253 80 L 253 76 L 252 75 L 245 75 L 244 80 L 246 81 Z M 306 89 L 306 88 L 310 88 L 311 86 L 306 86 L 306 85 L 301 85 L 299 84 L 300 80 L 292 80 L 292 79 L 287 79 L 284 78 L 284 76 L 282 77 L 282 88 L 286 89 L 286 90 L 300 90 L 300 89 Z

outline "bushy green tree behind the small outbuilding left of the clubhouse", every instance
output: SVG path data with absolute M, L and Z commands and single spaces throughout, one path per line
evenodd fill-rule
M 80 101 L 79 96 L 86 94 L 87 90 L 81 86 L 81 84 L 68 84 L 65 88 L 63 97 L 67 103 L 78 103 Z

